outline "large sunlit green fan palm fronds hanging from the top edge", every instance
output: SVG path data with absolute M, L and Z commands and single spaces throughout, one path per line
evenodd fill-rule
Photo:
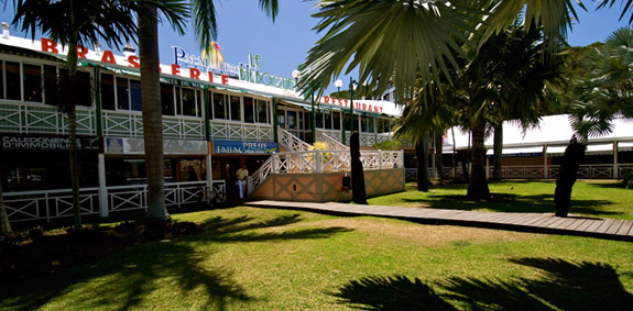
M 392 82 L 397 101 L 405 102 L 418 77 L 428 84 L 445 76 L 451 82 L 449 69 L 459 69 L 462 44 L 481 46 L 522 14 L 527 27 L 543 27 L 543 48 L 553 54 L 576 18 L 575 2 L 583 8 L 571 0 L 321 0 L 313 16 L 320 19 L 315 30 L 325 34 L 309 51 L 305 64 L 313 70 L 299 87 L 316 80 L 326 88 L 358 67 L 369 89 L 382 93 Z

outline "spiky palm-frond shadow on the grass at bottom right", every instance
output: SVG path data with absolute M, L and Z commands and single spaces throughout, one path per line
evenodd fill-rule
M 454 277 L 433 285 L 404 276 L 367 277 L 349 281 L 332 296 L 363 310 L 630 310 L 633 306 L 633 295 L 610 265 L 554 258 L 510 262 L 535 268 L 541 277 Z

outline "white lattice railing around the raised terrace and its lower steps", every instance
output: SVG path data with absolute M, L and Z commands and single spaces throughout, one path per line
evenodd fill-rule
M 361 152 L 363 169 L 403 168 L 402 151 Z M 349 151 L 309 151 L 276 153 L 249 179 L 249 192 L 252 192 L 271 174 L 320 174 L 350 171 L 351 156 Z

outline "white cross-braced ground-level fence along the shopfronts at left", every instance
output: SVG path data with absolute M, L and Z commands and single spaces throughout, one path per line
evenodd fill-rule
M 165 204 L 181 208 L 190 203 L 225 203 L 226 182 L 214 180 L 211 188 L 206 181 L 168 182 L 165 184 Z M 106 207 L 101 206 L 105 196 Z M 83 188 L 79 191 L 83 215 L 110 212 L 146 210 L 148 186 L 112 186 L 107 193 L 100 193 L 99 188 Z M 70 189 L 47 191 L 6 192 L 4 204 L 11 222 L 46 220 L 73 216 L 73 192 Z

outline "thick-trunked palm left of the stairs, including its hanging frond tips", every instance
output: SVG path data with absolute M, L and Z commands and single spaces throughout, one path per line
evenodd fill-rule
M 176 7 L 178 20 L 172 20 L 182 32 L 181 22 L 189 12 L 194 19 L 196 35 L 204 51 L 211 48 L 217 36 L 216 10 L 212 0 L 192 0 L 190 11 L 182 10 L 181 0 L 162 0 L 164 4 Z M 260 0 L 260 7 L 274 21 L 277 0 Z M 145 166 L 148 171 L 148 219 L 165 222 L 170 219 L 164 198 L 163 127 L 160 97 L 159 68 L 159 18 L 155 7 L 149 3 L 138 11 L 139 57 L 141 59 L 141 96 L 143 109 L 143 138 L 145 144 Z

